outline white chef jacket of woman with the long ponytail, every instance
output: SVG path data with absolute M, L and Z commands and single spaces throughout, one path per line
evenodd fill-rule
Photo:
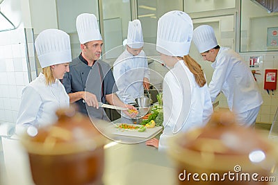
M 158 150 L 167 149 L 168 139 L 178 132 L 203 127 L 213 113 L 207 85 L 199 87 L 183 60 L 163 80 L 163 126 Z

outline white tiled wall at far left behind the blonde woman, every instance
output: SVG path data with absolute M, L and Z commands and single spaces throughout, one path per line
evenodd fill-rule
M 24 28 L 0 32 L 0 41 L 0 124 L 15 124 L 22 89 L 29 83 Z M 30 51 L 33 57 L 33 47 Z

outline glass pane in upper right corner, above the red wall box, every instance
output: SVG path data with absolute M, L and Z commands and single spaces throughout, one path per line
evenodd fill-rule
M 253 1 L 241 2 L 240 52 L 278 51 L 278 13 Z

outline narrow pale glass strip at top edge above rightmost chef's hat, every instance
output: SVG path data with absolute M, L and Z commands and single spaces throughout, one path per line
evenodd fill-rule
M 184 11 L 204 12 L 210 10 L 222 10 L 236 8 L 236 0 L 185 0 Z

